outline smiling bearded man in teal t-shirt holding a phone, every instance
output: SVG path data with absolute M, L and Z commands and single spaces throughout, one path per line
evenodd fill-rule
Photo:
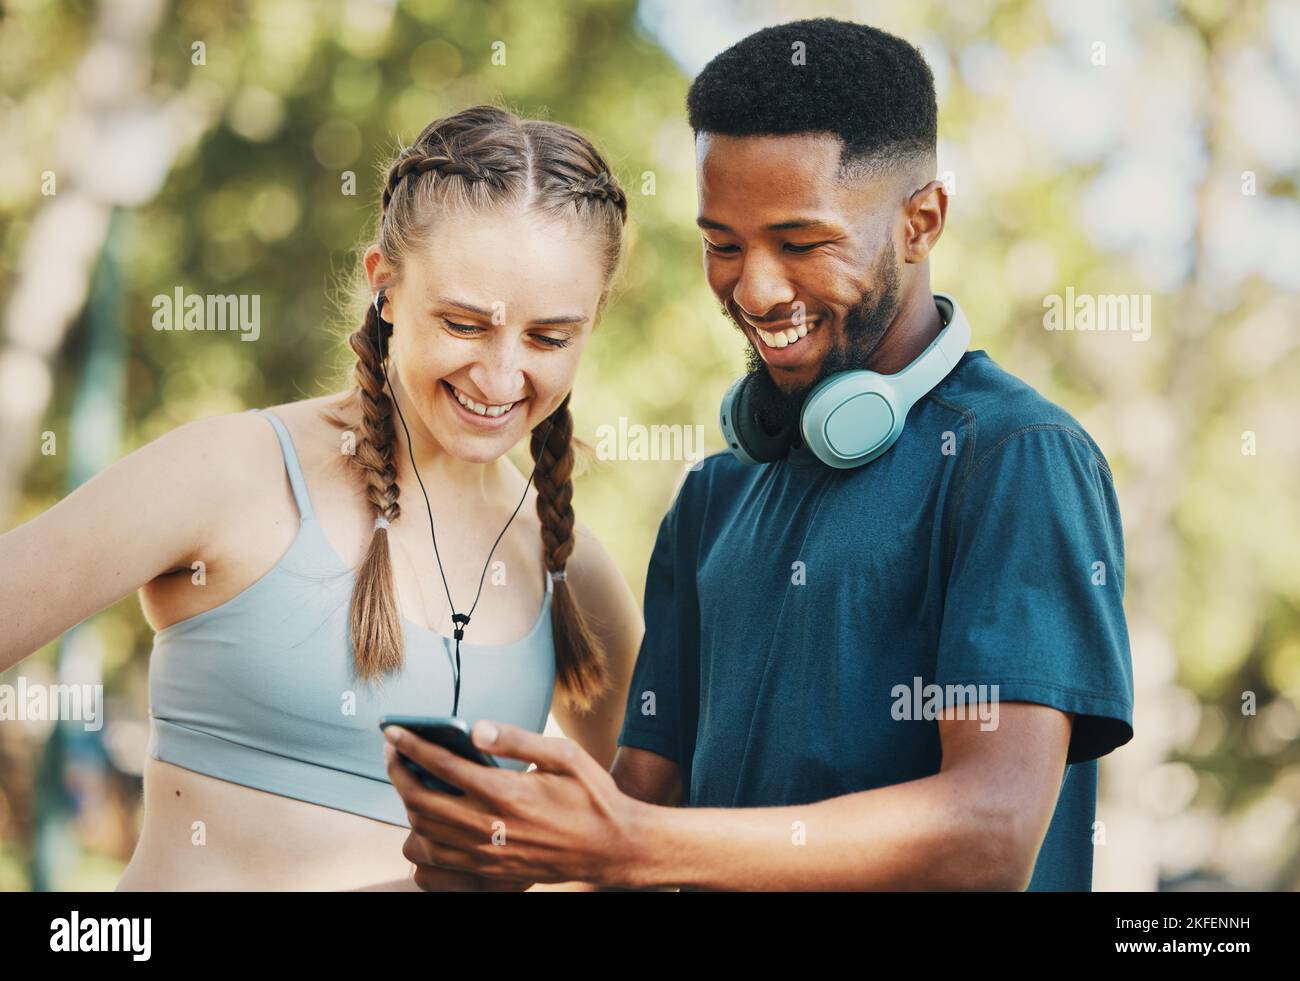
M 840 21 L 771 27 L 688 107 L 705 269 L 763 429 L 797 426 L 823 378 L 916 360 L 944 326 L 928 255 L 948 209 L 919 52 Z M 968 351 L 871 463 L 796 438 L 690 473 L 650 560 L 612 774 L 512 726 L 476 742 L 536 773 L 404 735 L 468 791 L 390 765 L 407 858 L 630 887 L 1091 889 L 1097 759 L 1132 738 L 1122 599 L 1101 451 Z

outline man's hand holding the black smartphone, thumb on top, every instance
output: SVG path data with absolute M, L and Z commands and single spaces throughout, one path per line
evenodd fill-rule
M 571 739 L 477 722 L 478 748 L 537 764 L 519 773 L 471 763 L 400 726 L 385 737 L 389 778 L 411 820 L 403 854 L 430 880 L 438 868 L 524 884 L 636 885 L 636 825 L 649 806 L 620 791 Z M 465 795 L 429 790 L 399 754 Z

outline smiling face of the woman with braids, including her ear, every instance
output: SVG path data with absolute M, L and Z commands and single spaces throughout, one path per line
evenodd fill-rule
M 391 278 L 377 248 L 365 264 L 372 288 Z M 603 285 L 601 243 L 577 222 L 515 209 L 441 218 L 384 307 L 412 434 L 471 463 L 502 456 L 572 389 Z

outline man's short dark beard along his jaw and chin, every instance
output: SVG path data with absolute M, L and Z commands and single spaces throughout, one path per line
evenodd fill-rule
M 786 426 L 798 427 L 803 403 L 823 379 L 840 372 L 867 368 L 885 331 L 898 311 L 898 270 L 894 268 L 897 255 L 893 242 L 880 253 L 874 269 L 875 290 L 863 294 L 844 316 L 844 338 L 827 351 L 816 377 L 807 385 L 801 385 L 789 392 L 783 391 L 767 370 L 763 359 L 754 350 L 753 342 L 745 350 L 745 370 L 749 381 L 750 404 L 759 424 L 768 433 L 780 433 Z M 828 325 L 827 325 L 828 329 Z

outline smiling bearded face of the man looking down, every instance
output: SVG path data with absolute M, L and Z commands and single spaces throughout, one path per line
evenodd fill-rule
M 705 274 L 750 343 L 759 417 L 798 417 L 824 377 L 866 368 L 898 311 L 907 190 L 842 182 L 822 134 L 696 140 Z

